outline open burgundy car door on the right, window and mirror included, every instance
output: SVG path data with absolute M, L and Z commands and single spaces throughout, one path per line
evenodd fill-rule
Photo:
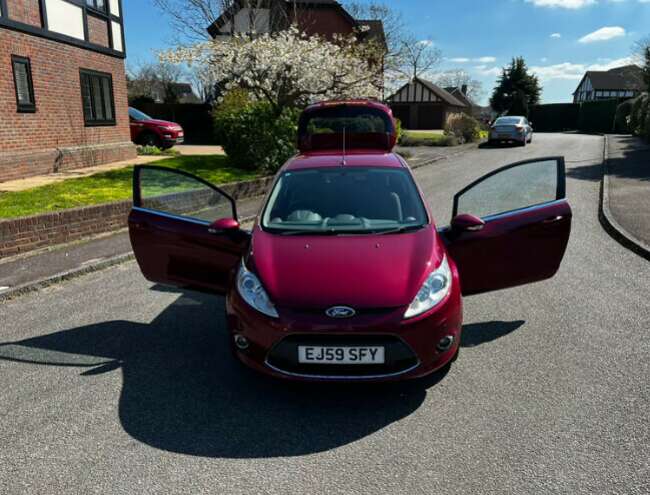
M 442 232 L 463 295 L 551 278 L 571 232 L 564 158 L 538 158 L 500 168 L 454 196 L 451 227 Z

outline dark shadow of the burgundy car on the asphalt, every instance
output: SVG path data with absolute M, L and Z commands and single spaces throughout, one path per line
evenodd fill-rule
M 368 436 L 413 413 L 447 374 L 398 384 L 300 384 L 239 364 L 229 349 L 223 299 L 183 293 L 151 323 L 109 321 L 0 344 L 0 359 L 123 373 L 119 418 L 133 438 L 188 455 L 296 456 Z M 523 322 L 468 325 L 478 345 Z

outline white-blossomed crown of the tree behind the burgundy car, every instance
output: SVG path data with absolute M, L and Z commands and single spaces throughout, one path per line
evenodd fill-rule
M 243 88 L 279 114 L 316 100 L 379 98 L 376 47 L 356 37 L 326 40 L 296 27 L 255 36 L 235 35 L 161 55 L 163 61 L 200 64 L 224 92 Z

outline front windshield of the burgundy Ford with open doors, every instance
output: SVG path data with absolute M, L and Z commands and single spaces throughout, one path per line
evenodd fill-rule
M 381 167 L 287 171 L 262 214 L 264 229 L 285 235 L 397 233 L 427 223 L 408 171 Z

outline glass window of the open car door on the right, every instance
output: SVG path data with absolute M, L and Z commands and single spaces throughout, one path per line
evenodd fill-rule
M 564 159 L 540 158 L 501 168 L 454 197 L 454 216 L 489 217 L 564 198 Z

